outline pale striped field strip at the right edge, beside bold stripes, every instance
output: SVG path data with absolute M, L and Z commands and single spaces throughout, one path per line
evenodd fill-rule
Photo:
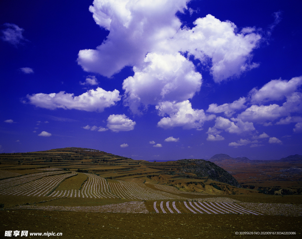
M 302 205 L 249 202 L 240 202 L 239 204 L 268 215 L 302 216 Z

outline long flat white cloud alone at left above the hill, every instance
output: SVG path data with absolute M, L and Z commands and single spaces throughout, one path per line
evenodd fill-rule
M 102 112 L 104 108 L 114 106 L 120 100 L 119 93 L 118 90 L 105 91 L 98 87 L 96 90 L 89 90 L 79 96 L 60 91 L 51 94 L 27 95 L 27 98 L 30 104 L 50 110 L 62 108 Z

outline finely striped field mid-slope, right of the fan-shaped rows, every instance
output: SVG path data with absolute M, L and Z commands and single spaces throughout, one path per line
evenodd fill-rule
M 123 199 L 141 199 L 141 200 L 156 200 L 156 199 L 179 199 L 186 200 L 181 196 L 175 196 L 167 192 L 154 190 L 146 187 L 143 183 L 130 183 L 118 181 L 118 183 L 109 183 L 112 193 Z

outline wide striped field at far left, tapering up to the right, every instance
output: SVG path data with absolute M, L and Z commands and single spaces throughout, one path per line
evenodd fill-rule
M 22 196 L 47 196 L 63 180 L 75 176 L 75 172 L 68 174 L 52 175 L 43 177 L 28 183 L 20 184 L 1 191 L 2 195 L 22 195 Z

